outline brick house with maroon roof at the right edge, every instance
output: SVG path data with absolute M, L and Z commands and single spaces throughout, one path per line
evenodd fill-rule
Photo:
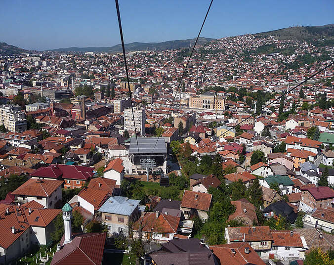
M 334 191 L 330 187 L 300 187 L 301 200 L 300 210 L 304 212 L 312 211 L 316 208 L 333 207 Z

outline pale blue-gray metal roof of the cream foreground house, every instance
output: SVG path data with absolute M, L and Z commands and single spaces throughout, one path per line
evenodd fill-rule
M 130 216 L 138 206 L 140 200 L 133 200 L 127 197 L 110 197 L 98 210 L 99 212 Z

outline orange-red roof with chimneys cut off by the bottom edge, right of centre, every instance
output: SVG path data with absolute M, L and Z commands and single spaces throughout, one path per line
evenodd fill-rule
M 254 249 L 245 242 L 233 242 L 210 246 L 209 248 L 221 265 L 265 265 Z

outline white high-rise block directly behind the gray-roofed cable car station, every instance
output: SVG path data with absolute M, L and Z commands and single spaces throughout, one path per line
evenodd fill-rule
M 134 124 L 136 125 L 136 131 L 139 132 L 140 135 L 145 134 L 145 122 L 146 122 L 146 113 L 145 109 L 143 108 L 133 108 L 133 115 L 134 115 L 134 121 L 133 123 L 133 117 L 132 117 L 132 110 L 131 108 L 126 108 L 124 110 L 124 129 L 134 132 Z

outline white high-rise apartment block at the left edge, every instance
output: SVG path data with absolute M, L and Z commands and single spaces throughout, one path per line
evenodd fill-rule
M 10 132 L 24 132 L 27 130 L 27 120 L 21 112 L 21 106 L 4 105 L 0 107 L 0 125 Z

